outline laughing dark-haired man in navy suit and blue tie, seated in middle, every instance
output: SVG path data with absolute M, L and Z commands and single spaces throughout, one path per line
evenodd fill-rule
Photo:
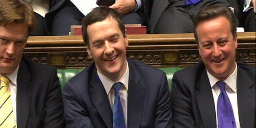
M 166 75 L 126 60 L 128 38 L 120 14 L 108 7 L 93 9 L 83 19 L 82 35 L 95 62 L 64 86 L 66 127 L 116 128 L 115 122 L 121 128 L 172 127 Z M 115 103 L 121 104 L 118 109 Z

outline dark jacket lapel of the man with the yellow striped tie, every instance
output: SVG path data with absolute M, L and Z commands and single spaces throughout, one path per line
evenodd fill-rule
M 30 95 L 33 81 L 26 64 L 21 61 L 17 76 L 17 125 L 25 128 L 29 116 Z

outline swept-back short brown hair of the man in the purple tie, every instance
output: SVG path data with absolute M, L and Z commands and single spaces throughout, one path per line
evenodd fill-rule
M 194 37 L 196 38 L 196 44 L 198 45 L 198 38 L 196 29 L 200 22 L 206 21 L 206 20 L 212 20 L 215 18 L 218 18 L 220 16 L 224 16 L 227 18 L 227 20 L 230 23 L 230 28 L 233 37 L 236 35 L 236 27 L 237 27 L 237 20 L 234 15 L 234 13 L 231 11 L 229 7 L 225 6 L 208 6 L 199 11 L 197 13 L 196 17 L 194 18 Z

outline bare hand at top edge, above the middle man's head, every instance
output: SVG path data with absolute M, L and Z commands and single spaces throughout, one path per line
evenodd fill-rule
M 135 0 L 117 0 L 110 8 L 117 10 L 122 16 L 133 11 Z

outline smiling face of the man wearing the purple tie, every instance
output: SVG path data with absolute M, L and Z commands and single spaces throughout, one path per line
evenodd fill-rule
M 200 22 L 197 29 L 199 54 L 214 77 L 225 80 L 235 68 L 237 35 L 233 38 L 227 18 Z

